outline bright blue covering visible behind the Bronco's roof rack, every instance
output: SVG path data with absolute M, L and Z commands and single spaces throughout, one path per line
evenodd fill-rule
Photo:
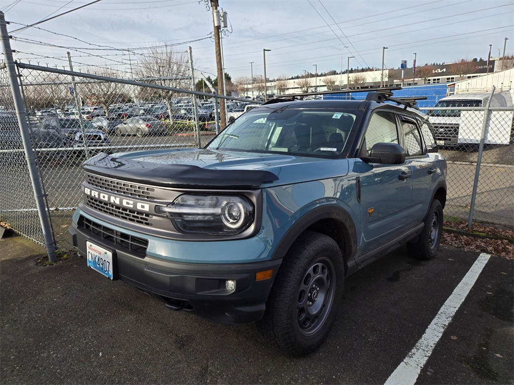
M 424 107 L 433 107 L 439 101 L 446 97 L 446 84 L 426 84 L 422 86 L 403 87 L 400 90 L 393 91 L 395 98 L 409 97 L 427 97 L 427 100 L 418 100 L 416 106 L 420 109 Z M 363 100 L 366 99 L 368 92 L 334 93 L 323 95 L 324 100 Z

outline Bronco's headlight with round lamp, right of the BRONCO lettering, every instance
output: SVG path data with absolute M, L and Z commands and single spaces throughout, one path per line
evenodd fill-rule
M 254 220 L 253 204 L 242 196 L 181 195 L 168 206 L 156 206 L 155 212 L 188 234 L 238 234 Z

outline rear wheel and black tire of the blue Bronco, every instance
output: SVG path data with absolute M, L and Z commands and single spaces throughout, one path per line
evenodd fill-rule
M 416 259 L 432 259 L 437 254 L 443 233 L 443 206 L 434 199 L 425 217 L 425 227 L 415 243 L 407 243 L 409 255 Z

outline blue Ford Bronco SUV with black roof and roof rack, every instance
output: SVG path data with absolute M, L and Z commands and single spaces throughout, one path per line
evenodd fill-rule
M 86 161 L 78 253 L 170 309 L 256 322 L 292 356 L 318 348 L 346 276 L 403 244 L 435 256 L 446 161 L 391 89 L 295 99 L 251 109 L 205 148 Z

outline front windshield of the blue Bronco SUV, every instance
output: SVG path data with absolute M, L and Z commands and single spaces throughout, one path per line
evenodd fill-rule
M 219 133 L 207 148 L 334 157 L 343 151 L 358 113 L 291 106 L 255 108 Z

